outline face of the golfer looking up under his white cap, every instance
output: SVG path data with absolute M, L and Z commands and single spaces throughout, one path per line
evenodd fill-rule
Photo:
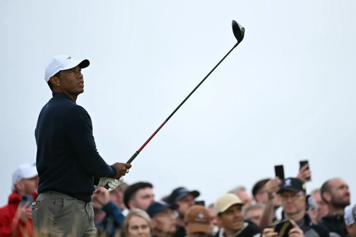
M 79 66 L 61 71 L 59 77 L 59 88 L 69 95 L 79 95 L 84 92 L 84 80 L 82 69 Z

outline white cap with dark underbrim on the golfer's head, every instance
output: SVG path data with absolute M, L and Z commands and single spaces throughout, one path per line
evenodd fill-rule
M 90 62 L 88 59 L 75 60 L 71 56 L 65 54 L 54 56 L 46 67 L 45 81 L 48 82 L 51 76 L 56 75 L 59 71 L 75 68 L 76 66 L 86 68 L 89 64 Z

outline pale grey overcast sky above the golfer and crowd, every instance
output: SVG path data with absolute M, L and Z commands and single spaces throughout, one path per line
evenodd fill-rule
M 210 203 L 272 177 L 276 164 L 295 176 L 308 159 L 309 190 L 342 177 L 355 192 L 355 1 L 133 2 L 1 2 L 0 203 L 16 166 L 36 159 L 52 56 L 90 60 L 77 103 L 105 161 L 126 162 L 235 44 L 232 19 L 246 28 L 244 41 L 145 147 L 126 181 L 152 182 L 158 198 L 184 185 Z

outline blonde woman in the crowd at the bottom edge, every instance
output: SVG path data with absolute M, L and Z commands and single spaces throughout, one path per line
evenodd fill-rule
M 127 214 L 124 222 L 126 237 L 151 237 L 152 222 L 150 216 L 141 209 L 132 209 Z

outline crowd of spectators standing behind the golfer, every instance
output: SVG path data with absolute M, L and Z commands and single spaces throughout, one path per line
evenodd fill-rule
M 305 165 L 295 177 L 257 180 L 251 193 L 240 184 L 209 204 L 199 201 L 198 187 L 177 187 L 162 198 L 147 181 L 124 182 L 111 190 L 96 187 L 96 235 L 356 237 L 356 206 L 350 204 L 346 181 L 330 178 L 308 192 L 305 184 L 311 175 Z M 0 237 L 36 236 L 31 202 L 37 197 L 37 183 L 35 165 L 23 164 L 14 171 L 8 203 L 0 209 Z M 282 209 L 282 218 L 277 209 Z M 289 229 L 278 229 L 281 223 L 288 223 Z

